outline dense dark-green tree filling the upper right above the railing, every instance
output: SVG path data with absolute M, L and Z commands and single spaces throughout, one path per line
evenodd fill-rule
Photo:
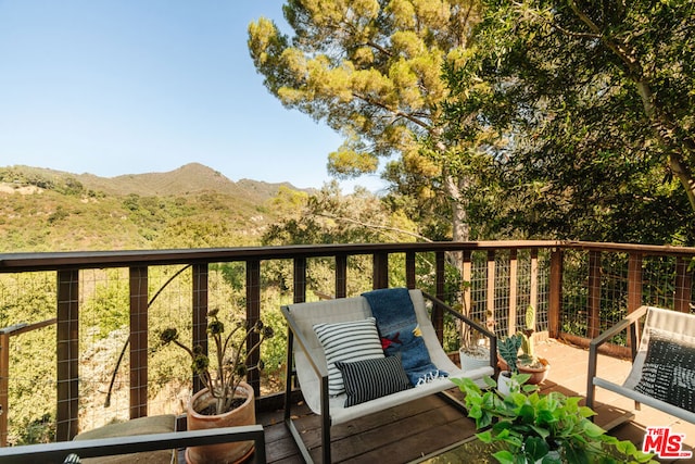
M 471 223 L 517 237 L 692 243 L 693 3 L 483 3 L 473 50 L 444 66 L 446 136 L 483 123 L 501 135 L 476 174 L 493 195 L 473 197 Z

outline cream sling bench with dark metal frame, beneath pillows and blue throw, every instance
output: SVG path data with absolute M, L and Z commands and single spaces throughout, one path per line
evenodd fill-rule
M 469 377 L 478 380 L 481 385 L 484 376 L 494 374 L 494 366 L 496 364 L 496 356 L 494 354 L 496 353 L 496 338 L 494 334 L 448 308 L 442 301 L 422 293 L 420 290 L 409 290 L 409 297 L 417 316 L 417 324 L 419 325 L 425 344 L 427 346 L 427 351 L 437 368 L 448 373 L 450 377 Z M 445 313 L 451 314 L 489 338 L 491 347 L 489 365 L 475 371 L 464 372 L 450 360 L 442 349 L 430 321 L 425 304 L 425 297 L 433 304 L 442 308 Z M 314 330 L 314 326 L 320 323 L 334 324 L 363 321 L 371 317 L 372 313 L 369 303 L 364 297 L 354 297 L 290 304 L 282 306 L 281 310 L 289 326 L 285 422 L 306 462 L 313 462 L 313 460 L 302 440 L 301 434 L 292 422 L 290 411 L 292 379 L 294 375 L 296 375 L 307 405 L 315 414 L 321 416 L 321 459 L 324 463 L 331 462 L 331 425 L 342 424 L 367 414 L 372 414 L 388 407 L 455 388 L 455 385 L 447 378 L 437 378 L 414 388 L 393 392 L 356 405 L 345 406 L 345 393 L 334 397 L 329 396 L 328 363 L 324 348 Z

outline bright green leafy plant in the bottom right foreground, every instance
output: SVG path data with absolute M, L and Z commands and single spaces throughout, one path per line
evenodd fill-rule
M 589 417 L 579 397 L 559 392 L 541 394 L 526 385 L 527 374 L 513 376 L 521 386 L 506 396 L 486 378 L 482 390 L 469 378 L 452 378 L 465 393 L 468 416 L 476 421 L 479 440 L 494 446 L 492 455 L 502 464 L 543 463 L 655 463 L 652 454 L 630 441 L 619 441 Z

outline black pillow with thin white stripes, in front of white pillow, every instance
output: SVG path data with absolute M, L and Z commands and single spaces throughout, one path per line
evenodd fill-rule
M 413 387 L 400 356 L 337 362 L 345 384 L 345 407 L 386 397 Z

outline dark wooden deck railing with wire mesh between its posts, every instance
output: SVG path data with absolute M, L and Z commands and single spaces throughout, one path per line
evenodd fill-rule
M 276 338 L 262 349 L 266 371 L 258 379 L 260 392 L 267 396 L 283 388 L 281 304 L 356 296 L 380 286 L 418 287 L 500 337 L 522 327 L 526 308 L 533 305 L 538 331 L 581 339 L 610 326 L 637 301 L 693 311 L 695 249 L 677 251 L 558 242 L 316 246 L 191 250 L 185 256 L 174 253 L 170 262 L 162 252 L 138 259 L 114 253 L 101 261 L 88 255 L 83 264 L 75 258 L 68 269 L 60 256 L 55 269 L 38 271 L 51 267 L 48 253 L 40 264 L 23 262 L 18 272 L 9 272 L 10 260 L 0 255 L 5 264 L 0 267 L 2 325 L 59 316 L 40 329 L 0 338 L 7 356 L 4 367 L 0 362 L 0 441 L 64 440 L 134 414 L 181 412 L 195 389 L 190 361 L 178 350 L 160 348 L 157 335 L 176 326 L 184 339 L 204 337 L 208 309 L 274 326 Z M 559 274 L 554 263 L 560 263 Z M 143 288 L 136 290 L 137 285 Z M 134 351 L 138 330 L 144 341 Z M 445 319 L 442 333 L 443 346 L 457 350 L 459 328 Z M 144 381 L 138 371 L 134 374 L 136 367 Z M 134 389 L 143 392 L 134 394 Z M 68 396 L 61 393 L 65 390 Z

